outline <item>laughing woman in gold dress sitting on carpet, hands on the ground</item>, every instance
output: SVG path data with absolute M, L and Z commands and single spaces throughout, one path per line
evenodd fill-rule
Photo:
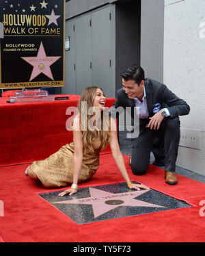
M 61 188 L 72 184 L 59 196 L 72 195 L 77 192 L 78 183 L 92 178 L 99 166 L 100 151 L 109 144 L 128 188 L 148 189 L 146 185 L 131 183 L 128 177 L 118 144 L 116 123 L 105 111 L 105 101 L 101 88 L 92 86 L 83 90 L 78 114 L 72 120 L 73 142 L 62 146 L 48 158 L 33 162 L 25 175 L 40 180 L 45 188 Z

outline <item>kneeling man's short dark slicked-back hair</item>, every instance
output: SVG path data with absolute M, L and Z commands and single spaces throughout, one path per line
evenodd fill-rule
M 143 68 L 136 64 L 128 66 L 121 76 L 125 81 L 134 80 L 138 86 L 141 84 L 141 81 L 145 79 Z

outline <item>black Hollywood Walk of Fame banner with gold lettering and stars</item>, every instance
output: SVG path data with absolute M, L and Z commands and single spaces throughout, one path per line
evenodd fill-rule
M 1 0 L 0 88 L 64 86 L 64 0 Z

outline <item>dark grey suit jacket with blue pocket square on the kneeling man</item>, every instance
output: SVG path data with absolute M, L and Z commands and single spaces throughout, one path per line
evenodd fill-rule
M 153 79 L 145 79 L 145 90 L 146 90 L 146 100 L 148 104 L 149 117 L 154 116 L 154 105 L 156 103 L 161 104 L 161 109 L 167 107 L 170 113 L 170 117 L 174 118 L 175 116 L 183 116 L 189 114 L 190 107 L 189 105 L 179 99 L 176 94 L 171 92 L 165 84 L 161 84 L 158 81 Z M 124 92 L 123 88 L 120 88 L 117 92 L 117 98 L 114 103 L 114 107 L 132 107 L 134 110 L 135 100 L 129 99 L 128 95 Z M 111 116 L 113 115 L 111 111 Z M 140 120 L 140 124 L 148 123 L 147 120 Z

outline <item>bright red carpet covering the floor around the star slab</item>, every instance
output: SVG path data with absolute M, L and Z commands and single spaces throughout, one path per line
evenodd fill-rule
M 163 170 L 152 165 L 146 175 L 135 176 L 128 157 L 124 159 L 131 180 L 195 206 L 77 225 L 36 194 L 55 190 L 25 177 L 28 164 L 3 166 L 0 200 L 5 212 L 0 217 L 0 238 L 4 242 L 205 242 L 205 216 L 200 216 L 199 205 L 205 200 L 205 184 L 177 175 L 178 185 L 167 185 Z M 81 187 L 122 181 L 113 157 L 105 154 L 96 175 Z

